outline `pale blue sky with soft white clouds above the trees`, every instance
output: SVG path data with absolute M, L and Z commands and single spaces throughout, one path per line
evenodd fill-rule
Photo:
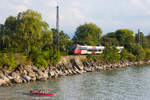
M 60 29 L 71 37 L 84 23 L 96 24 L 103 34 L 124 28 L 150 33 L 150 0 L 0 0 L 0 24 L 10 15 L 32 9 L 55 28 L 57 5 Z

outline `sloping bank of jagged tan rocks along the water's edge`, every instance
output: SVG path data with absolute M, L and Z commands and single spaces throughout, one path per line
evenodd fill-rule
M 47 68 L 37 68 L 34 65 L 19 65 L 12 71 L 1 69 L 0 87 L 31 81 L 43 81 L 60 76 L 76 75 L 92 71 L 111 70 L 131 65 L 150 64 L 150 61 L 120 61 L 114 64 L 103 64 L 93 61 L 85 62 L 83 61 L 85 58 L 86 56 L 64 56 L 57 66 L 49 65 Z

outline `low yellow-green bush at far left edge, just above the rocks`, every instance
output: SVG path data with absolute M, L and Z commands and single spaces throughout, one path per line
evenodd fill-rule
M 9 70 L 17 67 L 18 63 L 12 53 L 0 53 L 0 67 L 7 66 Z

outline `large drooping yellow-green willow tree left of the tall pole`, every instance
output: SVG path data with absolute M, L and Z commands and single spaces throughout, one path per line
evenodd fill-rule
M 1 34 L 3 49 L 29 53 L 32 48 L 42 49 L 52 44 L 52 32 L 42 20 L 41 14 L 32 10 L 6 19 L 4 35 Z

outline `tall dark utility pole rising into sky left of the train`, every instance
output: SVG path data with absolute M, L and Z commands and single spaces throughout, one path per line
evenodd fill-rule
M 57 48 L 59 48 L 59 6 L 56 7 L 56 41 L 57 41 Z

